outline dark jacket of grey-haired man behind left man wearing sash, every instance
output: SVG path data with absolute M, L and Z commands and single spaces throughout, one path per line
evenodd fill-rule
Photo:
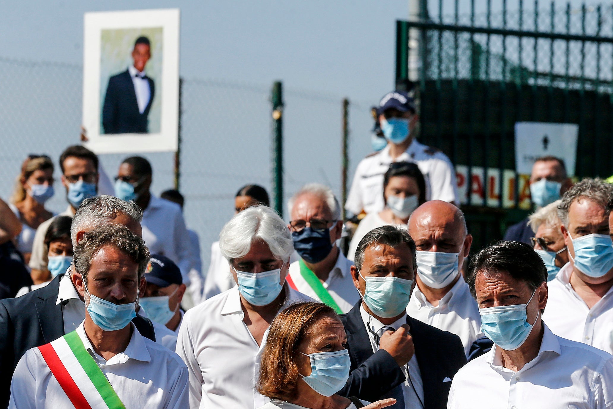
M 64 335 L 61 304 L 55 305 L 62 276 L 19 298 L 0 300 L 0 408 L 9 405 L 10 380 L 26 351 Z M 149 319 L 139 315 L 132 323 L 143 337 L 155 341 Z

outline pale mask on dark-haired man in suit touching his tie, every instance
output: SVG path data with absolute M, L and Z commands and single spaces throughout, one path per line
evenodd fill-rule
M 362 277 L 362 279 L 366 281 L 366 291 L 362 299 L 373 314 L 381 318 L 394 318 L 406 310 L 411 299 L 413 280 L 399 277 Z

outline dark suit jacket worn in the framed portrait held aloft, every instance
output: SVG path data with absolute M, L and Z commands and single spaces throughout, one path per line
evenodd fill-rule
M 105 134 L 140 134 L 148 132 L 148 116 L 155 95 L 155 84 L 147 76 L 151 97 L 140 113 L 134 83 L 128 70 L 109 78 L 102 107 L 102 126 Z

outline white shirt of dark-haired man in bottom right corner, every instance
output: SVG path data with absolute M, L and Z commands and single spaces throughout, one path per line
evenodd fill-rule
M 544 325 L 538 355 L 513 372 L 497 346 L 468 362 L 451 383 L 448 409 L 613 407 L 613 356 L 554 335 Z

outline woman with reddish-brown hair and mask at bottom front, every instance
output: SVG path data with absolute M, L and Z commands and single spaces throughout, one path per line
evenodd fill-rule
M 272 399 L 259 409 L 376 409 L 395 399 L 368 403 L 336 394 L 349 378 L 347 336 L 326 304 L 299 302 L 270 324 L 257 391 Z

